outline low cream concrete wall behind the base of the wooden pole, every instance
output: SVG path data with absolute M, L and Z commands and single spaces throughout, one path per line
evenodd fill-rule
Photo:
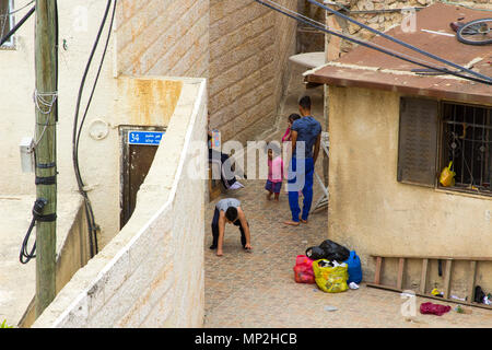
M 36 294 L 36 259 L 19 261 L 21 244 L 32 220 L 35 194 L 27 196 L 0 196 L 0 318 L 20 327 L 34 322 L 32 303 Z M 58 196 L 56 242 L 56 290 L 59 291 L 90 259 L 89 238 L 83 200 L 79 194 Z M 36 229 L 31 232 L 28 247 L 34 244 Z M 30 305 L 31 303 L 31 305 Z M 32 310 L 31 310 L 32 308 Z M 27 311 L 26 311 L 27 310 Z

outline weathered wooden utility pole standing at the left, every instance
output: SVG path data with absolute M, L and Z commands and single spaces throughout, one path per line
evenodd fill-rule
M 45 206 L 36 221 L 36 317 L 56 295 L 56 122 L 57 122 L 57 4 L 36 0 L 36 198 Z

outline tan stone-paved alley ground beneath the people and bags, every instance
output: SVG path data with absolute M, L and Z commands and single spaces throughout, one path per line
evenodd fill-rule
M 323 177 L 320 166 L 319 159 L 316 172 Z M 329 294 L 316 284 L 296 283 L 295 257 L 329 238 L 327 210 L 312 214 L 308 224 L 286 226 L 282 223 L 290 219 L 284 184 L 280 202 L 274 202 L 266 199 L 265 180 L 242 183 L 245 188 L 216 198 L 208 205 L 206 212 L 206 328 L 492 327 L 492 311 L 489 310 L 466 306 L 472 310 L 471 315 L 454 310 L 443 316 L 422 315 L 419 306 L 424 302 L 446 304 L 452 308 L 457 304 L 417 298 L 417 315 L 406 320 L 401 314 L 406 300 L 399 293 L 362 283 L 359 290 Z M 315 183 L 314 202 L 320 196 L 321 189 Z M 251 231 L 251 253 L 243 250 L 239 231 L 233 225 L 225 229 L 224 256 L 218 257 L 215 250 L 209 249 L 213 208 L 216 201 L 226 197 L 242 201 Z M 327 311 L 327 306 L 335 306 L 337 311 Z

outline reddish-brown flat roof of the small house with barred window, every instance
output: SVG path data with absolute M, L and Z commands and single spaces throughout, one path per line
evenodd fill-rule
M 386 32 L 386 34 L 454 63 L 467 68 L 470 68 L 469 66 L 471 65 L 473 70 L 492 77 L 492 45 L 466 45 L 449 35 L 422 31 L 454 35 L 455 32 L 449 27 L 450 22 L 456 22 L 459 18 L 465 18 L 462 22 L 469 22 L 488 16 L 483 11 L 436 3 L 417 13 L 417 28 L 414 32 L 405 33 L 400 26 L 397 26 Z M 442 62 L 380 36 L 375 37 L 371 42 L 432 62 L 434 67 L 446 67 Z M 418 68 L 422 67 L 367 47 L 359 46 L 340 59 L 306 73 L 305 80 L 312 83 L 390 90 L 413 95 L 492 105 L 492 85 L 467 81 L 449 74 L 418 75 L 411 72 L 412 69 Z M 449 66 L 447 68 L 454 69 Z

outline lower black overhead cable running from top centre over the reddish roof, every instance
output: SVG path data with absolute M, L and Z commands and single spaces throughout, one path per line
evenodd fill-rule
M 376 45 L 374 45 L 372 43 L 362 42 L 360 39 L 355 39 L 355 38 L 349 37 L 349 36 L 344 35 L 344 34 L 340 34 L 340 33 L 333 32 L 332 30 L 328 30 L 326 27 L 326 25 L 319 26 L 319 25 L 309 23 L 306 20 L 303 20 L 303 19 L 297 18 L 296 15 L 292 15 L 290 13 L 286 13 L 286 12 L 280 10 L 280 9 L 271 5 L 271 4 L 266 3 L 265 1 L 261 1 L 261 0 L 255 0 L 255 1 L 260 3 L 260 4 L 262 4 L 262 5 L 265 5 L 265 7 L 267 7 L 267 8 L 269 8 L 269 9 L 272 9 L 272 10 L 279 12 L 279 13 L 282 13 L 282 14 L 291 18 L 291 19 L 294 19 L 297 22 L 301 22 L 301 23 L 307 24 L 309 26 L 313 26 L 313 27 L 315 27 L 315 28 L 317 28 L 317 30 L 319 30 L 321 32 L 325 32 L 325 33 L 328 33 L 328 34 L 331 34 L 331 35 L 335 35 L 335 36 L 338 36 L 338 37 L 341 37 L 343 39 L 353 42 L 353 43 L 359 44 L 361 46 L 365 46 L 365 47 L 372 48 L 374 50 L 380 51 L 383 54 L 386 54 L 386 55 L 389 55 L 389 56 L 393 56 L 393 57 L 396 57 L 396 58 L 399 58 L 401 60 L 405 60 L 405 61 L 408 61 L 408 62 L 411 62 L 411 63 L 414 63 L 414 65 L 418 65 L 418 66 L 422 66 L 422 67 L 435 70 L 435 71 L 440 71 L 440 72 L 443 72 L 443 73 L 446 73 L 446 74 L 452 74 L 452 75 L 455 75 L 455 77 L 458 77 L 458 78 L 462 78 L 462 79 L 466 79 L 466 80 L 471 80 L 471 81 L 476 81 L 476 82 L 480 82 L 480 83 L 484 83 L 484 84 L 492 84 L 492 82 L 489 81 L 489 80 L 477 79 L 477 78 L 473 78 L 473 77 L 460 74 L 459 72 L 455 72 L 455 71 L 448 70 L 446 68 L 440 68 L 440 67 L 434 67 L 434 66 L 431 66 L 431 65 L 418 62 L 415 59 L 407 58 L 407 57 L 405 57 L 402 55 L 398 55 L 397 52 L 391 51 L 389 49 L 378 47 L 378 46 L 376 46 Z M 267 0 L 267 1 L 269 1 L 269 0 Z M 273 1 L 270 1 L 270 2 L 273 2 Z M 485 78 L 488 78 L 488 77 L 485 77 Z M 488 78 L 488 79 L 490 79 L 490 78 Z

